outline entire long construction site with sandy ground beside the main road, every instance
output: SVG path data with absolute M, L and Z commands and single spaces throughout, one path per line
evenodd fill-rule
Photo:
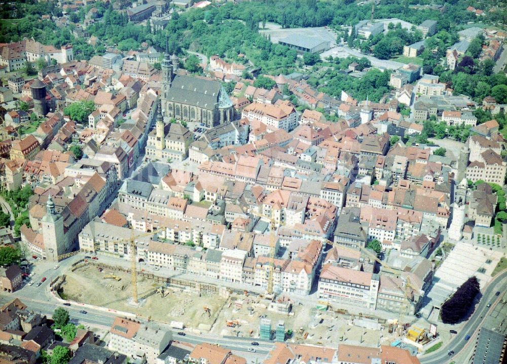
M 284 296 L 276 299 L 216 292 L 194 287 L 161 285 L 157 279 L 137 275 L 139 304 L 131 305 L 131 274 L 127 270 L 107 268 L 98 264 L 80 264 L 65 273 L 58 291 L 66 300 L 132 312 L 140 317 L 210 332 L 219 336 L 279 339 L 276 336 L 283 321 L 283 338 L 289 342 L 332 345 L 338 341 L 377 345 L 381 333 L 377 327 L 364 328 L 350 316 L 307 305 L 293 305 Z M 262 333 L 261 323 L 270 320 L 269 336 Z M 393 337 L 394 340 L 394 337 Z

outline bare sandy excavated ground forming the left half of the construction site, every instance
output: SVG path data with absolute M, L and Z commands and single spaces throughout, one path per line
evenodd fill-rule
M 104 278 L 106 275 L 115 275 L 121 280 Z M 134 307 L 127 302 L 131 298 L 130 274 L 113 272 L 104 269 L 102 272 L 95 266 L 77 269 L 75 272 L 66 272 L 65 284 L 62 286 L 62 298 L 112 308 L 115 310 L 132 312 L 144 317 L 164 322 L 182 321 L 186 327 L 197 328 L 199 323 L 211 325 L 226 299 L 218 294 L 201 294 L 184 291 L 178 288 L 168 288 L 170 293 L 162 298 L 155 291 L 160 285 L 156 282 L 138 277 L 138 297 L 146 297 L 141 301 L 140 307 Z M 210 316 L 204 312 L 203 306 L 210 309 Z

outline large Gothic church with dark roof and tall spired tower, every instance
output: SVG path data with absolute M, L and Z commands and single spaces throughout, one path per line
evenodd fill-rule
M 178 63 L 178 57 L 170 56 L 166 45 L 161 65 L 163 115 L 207 127 L 232 122 L 234 108 L 222 84 L 205 77 L 177 74 Z

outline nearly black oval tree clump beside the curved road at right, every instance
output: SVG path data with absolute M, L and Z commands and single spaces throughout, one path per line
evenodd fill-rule
M 476 276 L 468 278 L 452 295 L 444 302 L 440 310 L 440 317 L 444 323 L 458 323 L 472 307 L 474 299 L 480 292 L 479 281 Z

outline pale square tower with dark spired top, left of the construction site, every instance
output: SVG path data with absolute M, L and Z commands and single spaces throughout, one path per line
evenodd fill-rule
M 55 203 L 48 198 L 46 215 L 42 218 L 42 235 L 46 259 L 58 261 L 58 257 L 66 253 L 65 237 L 63 235 L 63 217 L 55 210 Z

